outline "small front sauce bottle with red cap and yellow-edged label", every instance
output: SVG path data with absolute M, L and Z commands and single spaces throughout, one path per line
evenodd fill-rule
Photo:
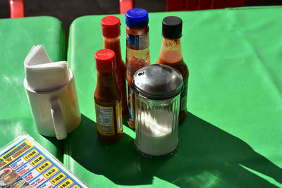
M 97 86 L 94 92 L 97 134 L 101 142 L 114 144 L 123 137 L 121 91 L 114 70 L 115 54 L 101 49 L 95 54 Z

